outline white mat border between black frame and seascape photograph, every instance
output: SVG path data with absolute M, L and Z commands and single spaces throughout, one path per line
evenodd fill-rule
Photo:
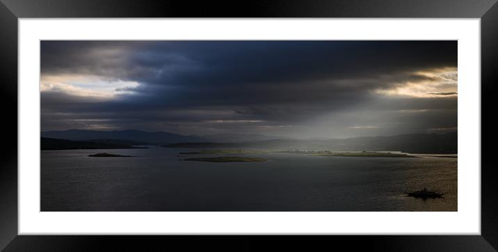
M 458 212 L 40 212 L 43 39 L 458 40 Z M 19 235 L 479 235 L 480 44 L 480 19 L 19 19 Z

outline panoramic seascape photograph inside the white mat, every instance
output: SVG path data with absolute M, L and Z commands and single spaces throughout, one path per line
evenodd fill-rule
M 458 212 L 457 175 L 458 40 L 40 40 L 41 212 Z

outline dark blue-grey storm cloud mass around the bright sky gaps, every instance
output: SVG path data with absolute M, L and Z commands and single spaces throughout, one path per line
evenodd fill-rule
M 139 84 L 115 88 L 127 93 L 112 100 L 42 92 L 42 127 L 66 128 L 56 122 L 82 117 L 118 128 L 213 120 L 264 122 L 210 127 L 278 126 L 336 111 L 456 109 L 456 98 L 372 95 L 407 81 L 437 81 L 417 71 L 456 68 L 456 49 L 456 41 L 42 41 L 42 77 Z

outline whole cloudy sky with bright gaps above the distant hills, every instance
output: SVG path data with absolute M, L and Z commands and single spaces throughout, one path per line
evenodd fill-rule
M 457 41 L 42 40 L 42 131 L 457 130 Z

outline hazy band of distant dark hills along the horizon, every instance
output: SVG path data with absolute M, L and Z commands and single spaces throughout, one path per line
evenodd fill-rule
M 275 148 L 300 150 L 403 151 L 410 153 L 456 153 L 457 132 L 447 134 L 403 134 L 398 136 L 365 136 L 348 139 L 278 139 L 259 134 L 214 134 L 183 136 L 168 132 L 140 130 L 95 131 L 70 129 L 41 132 L 51 139 L 86 141 L 110 145 L 161 144 L 185 148 Z

